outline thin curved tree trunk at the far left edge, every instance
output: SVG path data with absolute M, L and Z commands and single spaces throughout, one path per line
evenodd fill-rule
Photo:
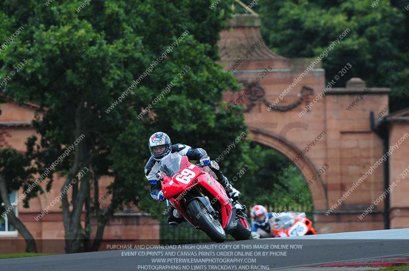
M 0 194 L 4 203 L 6 210 L 10 210 L 10 199 L 9 193 L 7 192 L 6 180 L 2 175 L 0 175 Z M 26 241 L 26 252 L 37 253 L 37 247 L 33 235 L 26 228 L 26 226 L 18 219 L 14 212 L 10 211 L 7 213 L 7 219 L 10 221 L 10 224 L 21 234 L 21 236 Z

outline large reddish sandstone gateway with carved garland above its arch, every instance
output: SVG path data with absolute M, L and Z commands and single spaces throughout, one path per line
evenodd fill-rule
M 331 85 L 322 95 L 327 83 L 321 62 L 270 52 L 260 24 L 257 15 L 236 14 L 220 32 L 219 63 L 243 84 L 238 92 L 223 93 L 223 100 L 246 106 L 245 122 L 255 142 L 290 160 L 303 152 L 296 166 L 307 181 L 317 169 L 329 166 L 310 185 L 314 227 L 320 233 L 383 229 L 383 204 L 365 221 L 357 217 L 383 192 L 383 165 L 330 215 L 326 212 L 382 156 L 382 140 L 371 129 L 370 112 L 388 106 L 390 89 L 368 89 L 365 82 L 352 78 L 345 88 Z M 325 136 L 316 141 L 321 134 Z

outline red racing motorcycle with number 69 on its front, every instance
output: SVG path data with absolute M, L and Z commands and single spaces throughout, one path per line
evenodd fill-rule
M 193 227 L 215 242 L 223 242 L 226 234 L 245 240 L 251 234 L 246 208 L 232 202 L 216 179 L 210 167 L 192 164 L 176 153 L 162 159 L 158 174 L 168 203 Z

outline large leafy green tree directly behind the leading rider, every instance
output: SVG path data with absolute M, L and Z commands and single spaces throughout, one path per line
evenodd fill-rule
M 173 143 L 201 146 L 218 155 L 246 131 L 241 112 L 218 121 L 221 113 L 215 102 L 221 101 L 224 90 L 237 90 L 234 78 L 212 87 L 223 75 L 214 61 L 218 33 L 230 16 L 229 1 L 211 10 L 209 1 L 107 0 L 91 2 L 78 12 L 82 3 L 53 1 L 46 6 L 18 0 L 0 7 L 1 39 L 24 26 L 0 55 L 0 77 L 22 66 L 1 91 L 19 103 L 39 105 L 33 121 L 41 136 L 38 170 L 45 170 L 83 137 L 54 169 L 65 178 L 61 191 L 79 179 L 82 168 L 89 169 L 72 184 L 71 200 L 66 193 L 62 196 L 67 253 L 98 249 L 108 219 L 123 204 L 149 210 L 159 206 L 146 196 L 143 174 L 147 138 L 153 132 L 167 132 Z M 178 40 L 183 33 L 187 35 Z M 172 52 L 132 86 L 176 40 Z M 185 74 L 178 75 L 184 69 Z M 170 82 L 171 90 L 163 92 Z M 129 93 L 119 101 L 126 90 Z M 137 118 L 161 93 L 165 97 L 152 111 Z M 233 158 L 232 154 L 223 161 L 231 173 L 242 165 L 237 161 L 246 159 L 245 142 L 235 148 Z M 99 202 L 101 176 L 114 178 L 106 208 Z M 49 186 L 52 183 L 49 180 Z M 88 203 L 89 215 L 98 222 L 93 243 L 86 238 L 90 229 L 80 223 Z

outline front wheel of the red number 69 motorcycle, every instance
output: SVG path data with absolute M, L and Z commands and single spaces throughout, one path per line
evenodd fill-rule
M 188 210 L 195 222 L 195 225 L 200 230 L 205 232 L 210 239 L 217 243 L 224 242 L 226 240 L 226 233 L 223 226 L 221 226 L 218 219 L 215 219 L 206 207 L 198 200 L 192 200 L 188 204 Z

